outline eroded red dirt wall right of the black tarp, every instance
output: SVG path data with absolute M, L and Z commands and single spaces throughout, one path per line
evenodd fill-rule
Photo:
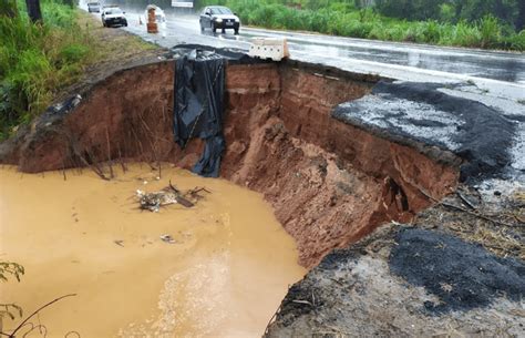
M 265 194 L 298 242 L 301 264 L 317 264 L 379 224 L 411 219 L 429 205 L 420 188 L 440 198 L 454 187 L 455 170 L 330 117 L 334 105 L 366 95 L 371 83 L 278 71 L 258 78 L 231 69 L 223 174 Z

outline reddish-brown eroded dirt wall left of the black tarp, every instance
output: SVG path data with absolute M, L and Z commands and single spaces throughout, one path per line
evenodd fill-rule
M 60 120 L 42 116 L 13 157 L 20 171 L 32 173 L 119 157 L 166 158 L 173 150 L 172 98 L 172 62 L 117 72 Z

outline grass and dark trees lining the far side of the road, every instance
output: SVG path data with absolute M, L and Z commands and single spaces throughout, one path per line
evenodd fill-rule
M 200 0 L 245 24 L 325 34 L 525 51 L 519 0 Z

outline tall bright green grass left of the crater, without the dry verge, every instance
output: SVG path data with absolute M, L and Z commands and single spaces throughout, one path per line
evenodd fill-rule
M 18 18 L 0 18 L 0 140 L 45 110 L 90 59 L 90 37 L 74 9 L 42 0 L 43 24 L 30 22 L 23 1 L 19 10 Z

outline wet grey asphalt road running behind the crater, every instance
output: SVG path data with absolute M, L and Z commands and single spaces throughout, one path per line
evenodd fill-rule
M 84 6 L 82 6 L 84 7 Z M 351 72 L 418 82 L 474 82 L 482 91 L 515 101 L 525 100 L 525 53 L 397 43 L 312 33 L 241 27 L 225 34 L 200 32 L 198 16 L 167 14 L 166 29 L 147 34 L 140 24 L 144 11 L 121 2 L 128 20 L 127 31 L 162 47 L 198 43 L 248 50 L 255 37 L 284 37 L 291 59 L 336 66 Z M 94 14 L 96 16 L 96 14 Z

